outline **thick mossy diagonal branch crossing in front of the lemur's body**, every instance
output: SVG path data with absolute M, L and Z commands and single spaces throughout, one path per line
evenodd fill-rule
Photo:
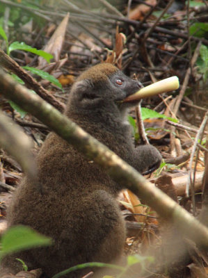
M 29 90 L 17 84 L 2 70 L 0 70 L 0 88 L 0 93 L 4 97 L 14 101 L 22 109 L 37 117 L 88 159 L 100 165 L 114 181 L 131 190 L 146 204 L 154 208 L 159 215 L 175 224 L 182 234 L 208 250 L 207 227 L 175 203 L 173 199 L 155 188 L 152 183 L 125 161 L 122 161 L 110 149 L 83 131 L 77 124 L 47 104 L 38 95 L 31 94 Z

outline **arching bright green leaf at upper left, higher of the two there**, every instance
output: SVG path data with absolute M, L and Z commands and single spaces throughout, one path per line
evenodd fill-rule
M 51 55 L 43 50 L 38 50 L 36 48 L 30 47 L 29 45 L 25 44 L 24 42 L 13 42 L 12 44 L 10 44 L 10 46 L 8 47 L 8 55 L 10 55 L 10 52 L 15 49 L 22 49 L 24 51 L 29 51 L 33 54 L 41 56 L 41 57 L 45 58 L 45 60 L 47 60 L 48 63 L 50 62 L 50 60 L 52 58 L 54 58 L 53 55 Z

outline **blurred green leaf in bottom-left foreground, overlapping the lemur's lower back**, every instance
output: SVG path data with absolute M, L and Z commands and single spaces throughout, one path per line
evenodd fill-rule
M 46 245 L 51 245 L 51 238 L 38 234 L 29 227 L 11 227 L 1 237 L 1 258 L 9 253 Z

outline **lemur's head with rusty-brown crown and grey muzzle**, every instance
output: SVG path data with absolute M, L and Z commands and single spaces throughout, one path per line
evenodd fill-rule
M 127 108 L 135 106 L 135 103 L 122 103 L 122 100 L 140 88 L 140 82 L 130 79 L 117 67 L 102 63 L 79 76 L 72 87 L 67 110 L 79 114 L 111 111 L 113 116 L 123 118 Z

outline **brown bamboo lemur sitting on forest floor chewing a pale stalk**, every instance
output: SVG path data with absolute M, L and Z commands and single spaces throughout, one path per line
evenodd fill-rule
M 140 87 L 109 63 L 95 65 L 72 86 L 65 115 L 143 173 L 159 167 L 161 155 L 152 145 L 134 147 L 125 111 L 136 104 L 119 102 Z M 53 238 L 54 245 L 7 256 L 1 275 L 22 269 L 15 258 L 29 269 L 42 268 L 47 277 L 79 263 L 118 259 L 125 243 L 125 223 L 115 201 L 120 184 L 55 133 L 45 140 L 37 163 L 44 194 L 25 178 L 10 206 L 8 226 L 28 225 Z

